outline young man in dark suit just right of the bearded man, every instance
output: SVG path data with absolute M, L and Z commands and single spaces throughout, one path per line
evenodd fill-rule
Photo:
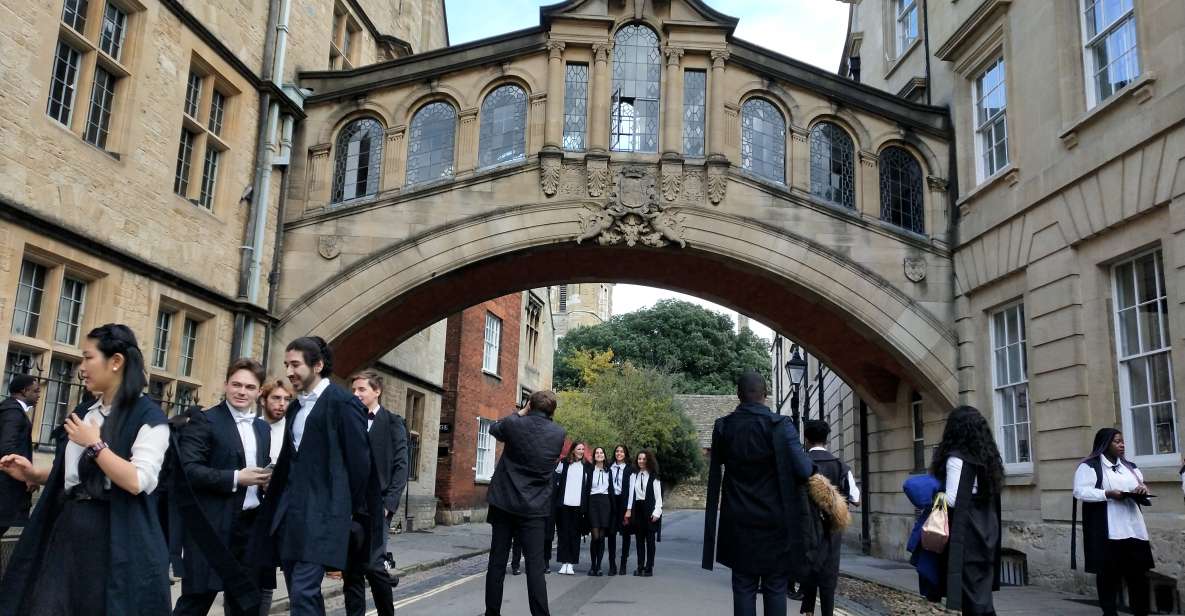
M 399 508 L 408 486 L 408 431 L 403 418 L 379 404 L 383 377 L 373 370 L 353 376 L 354 396 L 366 408 L 366 431 L 371 447 L 371 488 L 377 488 L 377 508 L 371 512 L 371 540 L 364 550 L 353 550 L 345 579 L 346 614 L 366 614 L 366 584 L 370 584 L 378 616 L 395 615 L 392 589 L 397 583 L 387 569 L 387 541 L 391 519 Z

